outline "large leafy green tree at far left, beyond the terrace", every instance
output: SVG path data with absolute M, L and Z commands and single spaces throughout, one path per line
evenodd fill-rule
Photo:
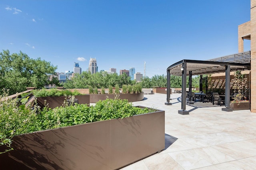
M 41 88 L 48 84 L 48 75 L 55 74 L 56 66 L 45 60 L 30 59 L 25 53 L 3 50 L 0 53 L 0 88 L 9 89 L 9 94 L 22 92 L 26 87 Z

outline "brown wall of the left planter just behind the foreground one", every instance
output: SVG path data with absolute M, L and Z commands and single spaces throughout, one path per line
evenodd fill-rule
M 75 96 L 75 98 L 78 100 L 79 104 L 87 104 L 90 105 L 90 96 L 89 95 L 81 95 L 81 96 Z M 67 97 L 67 100 L 69 98 Z M 64 96 L 48 96 L 48 97 L 38 97 L 36 102 L 38 106 L 44 107 L 44 100 L 46 100 L 46 104 L 49 104 L 49 108 L 55 108 L 62 106 L 65 97 Z

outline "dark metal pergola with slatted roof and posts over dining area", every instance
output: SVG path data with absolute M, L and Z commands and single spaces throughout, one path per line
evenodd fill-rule
M 232 111 L 230 108 L 230 72 L 250 70 L 250 63 L 230 63 L 218 61 L 181 60 L 167 68 L 167 102 L 170 103 L 170 74 L 182 76 L 182 102 L 178 113 L 185 115 L 186 111 L 186 76 L 189 76 L 189 94 L 192 92 L 192 75 L 213 74 L 225 72 L 225 107 L 223 111 Z

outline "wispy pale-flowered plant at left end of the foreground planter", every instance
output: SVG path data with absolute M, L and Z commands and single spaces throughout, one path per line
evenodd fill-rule
M 26 98 L 24 98 L 23 103 Z M 4 152 L 13 150 L 11 147 L 12 137 L 22 133 L 35 131 L 36 111 L 28 109 L 22 104 L 17 106 L 18 98 L 8 98 L 8 90 L 3 89 L 0 95 L 0 145 L 6 145 L 7 149 Z M 0 152 L 4 153 L 4 152 Z

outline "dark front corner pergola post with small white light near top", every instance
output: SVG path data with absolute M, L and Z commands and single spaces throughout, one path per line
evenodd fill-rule
M 187 82 L 187 63 L 183 61 L 182 63 L 182 96 L 181 96 L 181 109 L 178 113 L 182 115 L 188 115 L 188 111 L 186 111 L 186 82 Z

